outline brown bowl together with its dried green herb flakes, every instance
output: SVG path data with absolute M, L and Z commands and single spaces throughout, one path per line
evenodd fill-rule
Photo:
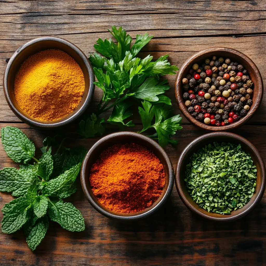
M 260 202 L 265 166 L 248 140 L 229 132 L 213 132 L 184 149 L 175 181 L 188 209 L 210 220 L 233 221 Z

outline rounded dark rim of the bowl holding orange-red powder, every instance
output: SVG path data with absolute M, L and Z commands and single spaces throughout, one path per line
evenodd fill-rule
M 155 149 L 157 149 L 163 155 L 164 160 L 166 162 L 166 167 L 168 168 L 168 171 L 169 171 L 169 184 L 168 184 L 168 187 L 167 187 L 167 190 L 166 190 L 164 196 L 161 198 L 161 200 L 152 209 L 149 209 L 148 211 L 141 213 L 141 214 L 137 214 L 137 215 L 132 214 L 131 216 L 122 216 L 122 215 L 115 215 L 115 214 L 109 213 L 108 211 L 104 210 L 102 207 L 100 207 L 94 201 L 94 199 L 90 195 L 90 193 L 87 189 L 87 186 L 86 186 L 86 178 L 88 178 L 88 176 L 85 176 L 85 170 L 87 167 L 89 157 L 98 148 L 99 144 L 102 144 L 102 143 L 106 142 L 107 140 L 113 139 L 114 137 L 117 137 L 117 136 L 136 137 L 136 138 L 144 140 L 144 142 L 151 144 Z M 134 142 L 134 140 L 132 140 L 132 142 Z M 113 144 L 115 144 L 115 143 L 113 143 Z M 145 146 L 145 145 L 143 145 L 143 146 Z M 106 135 L 93 144 L 93 146 L 89 149 L 88 153 L 86 154 L 86 156 L 83 160 L 83 163 L 81 166 L 80 180 L 81 180 L 81 186 L 82 186 L 83 192 L 84 192 L 87 200 L 94 207 L 95 210 L 97 210 L 99 213 L 101 213 L 102 215 L 104 215 L 108 218 L 114 218 L 114 219 L 125 220 L 125 221 L 132 221 L 132 220 L 139 220 L 139 219 L 146 218 L 147 216 L 155 213 L 161 206 L 163 206 L 163 204 L 166 202 L 166 200 L 170 196 L 172 189 L 173 189 L 174 169 L 173 169 L 172 162 L 171 162 L 170 158 L 168 157 L 167 153 L 165 152 L 165 150 L 157 142 L 155 142 L 153 139 L 151 139 L 147 136 L 144 136 L 142 134 L 139 134 L 139 133 L 135 133 L 135 132 L 131 132 L 131 131 L 121 131 L 121 132 L 115 132 L 115 133 L 111 133 L 109 135 Z

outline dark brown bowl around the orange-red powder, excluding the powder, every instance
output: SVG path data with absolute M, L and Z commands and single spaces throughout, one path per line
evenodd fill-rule
M 128 213 L 128 214 L 111 211 L 107 209 L 105 206 L 103 206 L 97 200 L 97 198 L 94 196 L 92 192 L 92 188 L 90 186 L 90 181 L 89 181 L 90 169 L 97 160 L 100 153 L 106 148 L 116 143 L 137 143 L 144 147 L 147 147 L 159 158 L 159 160 L 164 166 L 165 187 L 162 191 L 162 194 L 157 201 L 155 201 L 150 207 L 148 207 L 143 211 L 139 211 L 137 213 Z M 138 220 L 146 218 L 147 216 L 155 213 L 155 211 L 157 211 L 165 203 L 165 201 L 170 196 L 173 189 L 174 170 L 171 160 L 169 159 L 167 153 L 154 140 L 142 134 L 134 132 L 117 132 L 101 138 L 90 148 L 83 161 L 80 178 L 81 178 L 82 189 L 89 203 L 94 207 L 95 210 L 105 215 L 106 217 L 128 221 L 128 220 Z

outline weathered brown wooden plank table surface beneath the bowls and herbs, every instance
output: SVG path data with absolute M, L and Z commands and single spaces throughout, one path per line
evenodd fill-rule
M 229 0 L 0 0 L 0 76 L 5 60 L 27 41 L 41 36 L 65 38 L 86 55 L 94 52 L 98 38 L 109 38 L 107 28 L 123 26 L 135 38 L 148 32 L 155 37 L 144 47 L 141 56 L 155 59 L 169 54 L 179 67 L 188 57 L 214 46 L 238 49 L 258 66 L 266 81 L 266 1 Z M 174 80 L 167 95 L 173 101 Z M 92 108 L 100 97 L 95 89 Z M 266 162 L 266 100 L 246 125 L 235 131 L 250 140 Z M 108 117 L 108 114 L 106 114 Z M 136 127 L 141 128 L 138 115 Z M 22 123 L 6 103 L 0 85 L 0 127 L 19 127 L 37 147 L 51 132 L 39 131 Z M 76 125 L 69 127 L 71 146 L 90 148 L 98 138 L 77 139 Z M 132 130 L 132 129 L 131 129 Z M 109 126 L 107 133 L 117 131 Z M 201 131 L 183 118 L 183 129 L 175 139 L 177 147 L 165 148 L 174 167 L 182 150 Z M 0 144 L 0 168 L 16 166 Z M 12 200 L 1 193 L 0 207 Z M 86 200 L 80 184 L 68 198 L 85 217 L 84 232 L 72 233 L 50 222 L 44 240 L 32 252 L 22 231 L 12 235 L 0 233 L 0 265 L 266 265 L 266 196 L 246 217 L 231 223 L 217 223 L 192 214 L 180 200 L 176 188 L 170 199 L 156 214 L 138 222 L 110 220 Z M 2 213 L 0 214 L 2 219 Z

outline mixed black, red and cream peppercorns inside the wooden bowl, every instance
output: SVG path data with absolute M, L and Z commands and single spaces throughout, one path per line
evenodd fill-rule
M 243 65 L 212 57 L 194 64 L 182 79 L 189 113 L 210 126 L 226 126 L 246 116 L 252 105 L 253 81 Z

